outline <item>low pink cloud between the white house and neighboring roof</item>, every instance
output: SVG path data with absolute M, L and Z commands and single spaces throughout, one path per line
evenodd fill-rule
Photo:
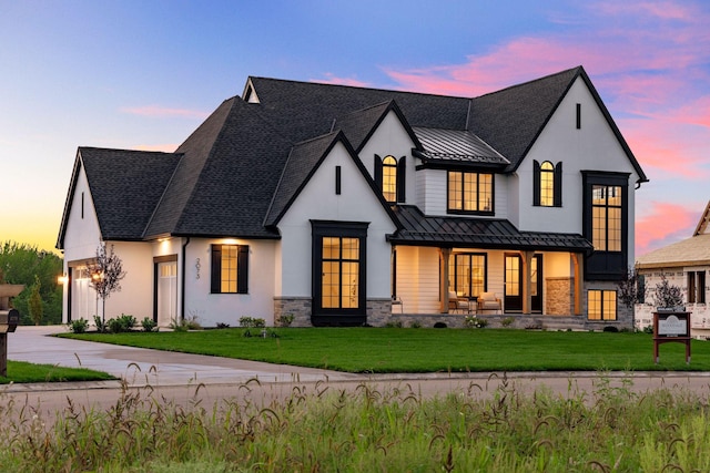
M 636 255 L 690 238 L 698 225 L 699 213 L 704 208 L 691 206 L 651 203 L 648 215 L 636 219 Z

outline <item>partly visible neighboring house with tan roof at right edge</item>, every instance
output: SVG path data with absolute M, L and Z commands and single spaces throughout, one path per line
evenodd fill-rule
M 710 338 L 710 310 L 708 310 L 708 271 L 710 271 L 710 202 L 700 216 L 692 237 L 665 246 L 640 256 L 636 261 L 639 275 L 641 299 L 637 304 L 636 327 L 639 329 L 653 323 L 653 290 L 662 278 L 683 291 L 686 310 L 690 316 L 690 331 L 693 337 Z

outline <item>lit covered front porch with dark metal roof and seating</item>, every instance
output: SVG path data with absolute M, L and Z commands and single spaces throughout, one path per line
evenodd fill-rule
M 516 328 L 584 328 L 584 261 L 592 246 L 580 235 L 519 232 L 505 219 L 425 216 L 410 206 L 395 212 L 403 228 L 388 237 L 393 320 L 456 327 L 476 315 L 491 327 L 505 320 Z M 484 294 L 498 306 L 483 307 Z

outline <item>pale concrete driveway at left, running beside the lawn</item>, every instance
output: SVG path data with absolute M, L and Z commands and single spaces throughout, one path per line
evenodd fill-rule
M 63 326 L 18 327 L 14 333 L 8 333 L 8 359 L 89 368 L 122 378 L 133 387 L 244 383 L 254 378 L 262 382 L 359 379 L 338 371 L 50 337 L 65 331 Z

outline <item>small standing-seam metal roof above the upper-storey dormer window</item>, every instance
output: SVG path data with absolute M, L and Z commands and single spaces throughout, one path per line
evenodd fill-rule
M 424 162 L 460 162 L 470 164 L 500 164 L 510 162 L 486 142 L 467 130 L 442 130 L 415 127 L 414 133 L 422 143 L 417 152 Z

